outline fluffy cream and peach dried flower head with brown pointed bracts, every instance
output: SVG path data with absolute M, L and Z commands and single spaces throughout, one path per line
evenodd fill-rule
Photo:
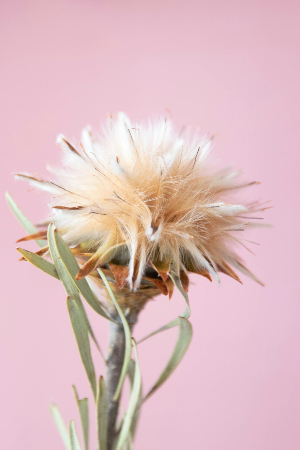
M 240 281 L 232 266 L 259 282 L 232 248 L 242 243 L 248 214 L 265 208 L 228 202 L 245 185 L 238 172 L 214 170 L 211 139 L 178 135 L 165 119 L 133 126 L 119 113 L 97 139 L 87 128 L 80 147 L 62 135 L 57 144 L 64 153 L 62 166 L 50 169 L 55 182 L 17 176 L 52 194 L 53 220 L 82 264 L 77 279 L 97 277 L 101 267 L 124 302 L 171 296 L 171 270 L 185 291 L 188 272 Z M 20 241 L 46 237 L 41 231 Z

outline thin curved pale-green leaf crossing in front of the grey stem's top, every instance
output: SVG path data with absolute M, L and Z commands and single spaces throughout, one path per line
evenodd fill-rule
M 125 315 L 123 314 L 123 311 L 121 310 L 121 307 L 119 306 L 118 302 L 116 301 L 116 297 L 114 296 L 113 292 L 112 292 L 112 288 L 110 287 L 105 275 L 103 274 L 102 270 L 97 269 L 101 278 L 103 279 L 103 282 L 105 284 L 105 287 L 107 288 L 107 291 L 114 303 L 114 305 L 116 306 L 116 311 L 118 312 L 121 322 L 123 324 L 124 327 L 124 334 L 125 334 L 125 353 L 124 353 L 124 361 L 123 361 L 123 366 L 122 366 L 122 370 L 121 370 L 121 375 L 116 387 L 116 392 L 115 395 L 113 397 L 113 399 L 116 401 L 118 400 L 120 394 L 121 394 L 121 389 L 128 371 L 128 366 L 130 363 L 130 357 L 131 357 L 131 333 L 130 333 L 130 328 L 128 325 L 128 322 L 125 318 Z

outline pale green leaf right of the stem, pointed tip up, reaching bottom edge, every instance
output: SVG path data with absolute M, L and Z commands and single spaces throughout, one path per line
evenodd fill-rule
M 122 448 L 125 446 L 126 441 L 128 440 L 130 436 L 130 427 L 132 423 L 132 419 L 134 416 L 134 411 L 136 410 L 136 406 L 139 401 L 139 393 L 141 390 L 141 372 L 139 369 L 139 360 L 138 360 L 138 354 L 136 350 L 136 344 L 134 342 L 134 339 L 132 339 L 132 345 L 134 347 L 134 354 L 135 354 L 135 369 L 134 369 L 134 379 L 132 384 L 132 389 L 130 393 L 130 399 L 128 403 L 128 408 L 125 413 L 125 417 L 123 420 L 122 428 L 116 443 L 116 449 L 115 450 L 122 450 Z

